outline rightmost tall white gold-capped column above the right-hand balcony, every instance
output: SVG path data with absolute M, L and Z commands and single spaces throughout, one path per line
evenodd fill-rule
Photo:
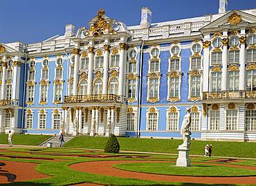
M 241 43 L 239 61 L 240 61 L 240 72 L 239 72 L 239 90 L 246 90 L 246 37 L 240 37 Z

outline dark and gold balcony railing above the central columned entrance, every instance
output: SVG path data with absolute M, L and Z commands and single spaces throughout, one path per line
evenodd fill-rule
M 77 103 L 77 102 L 125 102 L 124 96 L 117 96 L 115 94 L 90 94 L 90 95 L 77 95 L 77 96 L 64 96 L 64 103 Z

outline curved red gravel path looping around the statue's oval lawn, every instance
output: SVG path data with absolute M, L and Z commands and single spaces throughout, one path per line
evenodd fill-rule
M 219 183 L 219 184 L 256 184 L 256 176 L 248 177 L 196 177 L 196 176 L 170 176 L 160 174 L 148 174 L 140 172 L 129 172 L 121 169 L 115 169 L 112 167 L 114 164 L 119 163 L 141 163 L 141 162 L 169 162 L 170 161 L 94 161 L 84 162 L 70 165 L 71 169 L 75 169 L 80 172 L 89 172 L 93 174 L 103 174 L 107 176 L 117 176 L 124 178 L 135 178 L 140 180 L 158 180 L 158 181 L 170 181 L 181 183 Z M 199 164 L 199 163 L 196 163 Z M 212 163 L 201 163 L 210 164 Z M 214 164 L 223 165 L 223 164 Z M 244 169 L 256 170 L 256 167 L 239 166 L 239 165 L 223 165 L 230 167 L 239 167 Z M 189 167 L 188 167 L 189 169 Z

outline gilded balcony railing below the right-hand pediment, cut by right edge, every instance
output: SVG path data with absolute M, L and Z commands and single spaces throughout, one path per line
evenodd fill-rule
M 256 99 L 256 90 L 203 92 L 203 100 L 210 99 Z

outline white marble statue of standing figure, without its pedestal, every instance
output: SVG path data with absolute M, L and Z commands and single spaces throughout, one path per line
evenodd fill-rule
M 181 136 L 183 136 L 183 144 L 179 145 L 179 148 L 190 148 L 190 124 L 191 124 L 191 109 L 186 108 L 182 125 L 181 125 Z

